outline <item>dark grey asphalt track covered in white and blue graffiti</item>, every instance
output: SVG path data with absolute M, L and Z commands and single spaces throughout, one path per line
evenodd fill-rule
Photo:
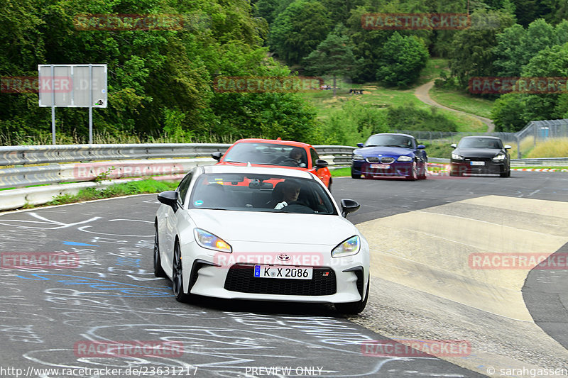
M 359 223 L 488 194 L 568 201 L 567 184 L 568 174 L 543 172 L 417 182 L 346 178 L 334 179 L 333 194 L 360 201 L 349 216 Z M 432 356 L 365 355 L 361 343 L 387 338 L 332 306 L 207 298 L 178 303 L 171 284 L 153 277 L 158 206 L 152 194 L 0 216 L 2 252 L 62 252 L 80 262 L 67 269 L 0 270 L 0 377 L 16 377 L 15 369 L 28 377 L 483 377 Z M 566 347 L 567 285 L 554 274 L 551 282 L 531 272 L 523 293 L 531 313 L 540 308 L 537 324 Z M 183 353 L 116 357 L 84 349 L 91 341 L 131 340 L 182 343 Z M 31 368 L 76 370 L 57 375 Z M 78 374 L 80 368 L 122 370 Z

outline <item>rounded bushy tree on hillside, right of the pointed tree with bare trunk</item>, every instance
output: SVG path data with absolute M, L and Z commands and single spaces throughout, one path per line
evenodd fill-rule
M 388 86 L 408 87 L 426 67 L 428 50 L 422 40 L 394 33 L 383 46 L 376 78 Z

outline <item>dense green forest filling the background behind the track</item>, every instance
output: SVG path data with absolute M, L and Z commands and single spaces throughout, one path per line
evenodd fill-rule
M 467 11 L 471 27 L 460 30 L 361 24 L 367 13 Z M 178 15 L 185 22 L 171 30 L 77 27 L 77 17 L 89 14 Z M 342 143 L 343 120 L 318 120 L 301 93 L 230 93 L 216 91 L 214 82 L 300 74 L 406 89 L 429 57 L 449 59 L 451 72 L 442 74 L 439 87 L 462 91 L 470 77 L 568 77 L 566 18 L 565 0 L 4 0 L 0 75 L 37 76 L 39 64 L 107 64 L 109 106 L 93 112 L 99 135 Z M 357 117 L 359 131 L 371 132 L 412 119 L 388 110 L 349 105 L 345 117 Z M 432 126 L 443 123 L 431 116 Z M 507 131 L 532 120 L 568 118 L 568 94 L 503 94 L 492 116 L 498 130 Z M 37 93 L 0 93 L 3 143 L 48 134 L 50 121 Z M 84 142 L 86 109 L 58 108 L 57 121 L 70 143 Z

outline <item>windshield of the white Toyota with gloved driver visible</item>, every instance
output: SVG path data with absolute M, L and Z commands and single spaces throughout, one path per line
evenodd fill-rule
M 315 179 L 266 174 L 202 174 L 189 208 L 337 215 Z

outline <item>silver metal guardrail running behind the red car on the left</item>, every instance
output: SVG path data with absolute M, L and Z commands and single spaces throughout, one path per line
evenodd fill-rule
M 0 147 L 0 166 L 23 165 L 0 169 L 0 188 L 182 174 L 196 165 L 214 164 L 215 160 L 203 156 L 223 152 L 229 146 L 191 143 Z M 351 164 L 354 147 L 314 147 L 330 167 Z M 69 163 L 85 160 L 88 162 Z

